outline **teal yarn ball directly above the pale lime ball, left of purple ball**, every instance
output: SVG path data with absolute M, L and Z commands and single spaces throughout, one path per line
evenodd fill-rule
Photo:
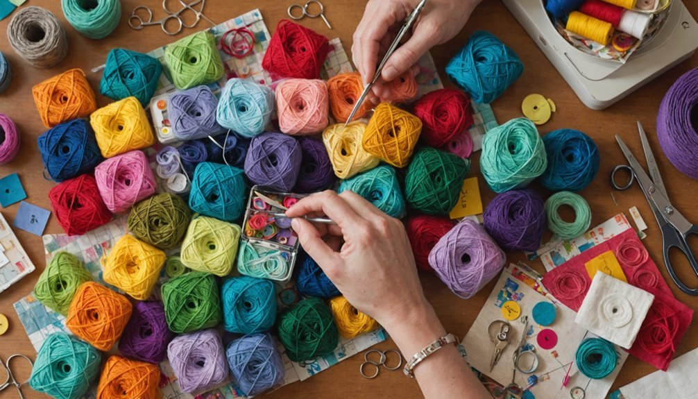
M 232 222 L 245 210 L 244 172 L 234 166 L 202 162 L 194 170 L 189 207 L 205 216 Z

